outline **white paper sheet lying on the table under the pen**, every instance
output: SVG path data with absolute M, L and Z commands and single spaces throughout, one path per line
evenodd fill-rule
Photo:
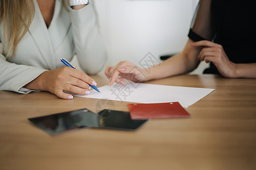
M 194 88 L 179 86 L 163 86 L 158 84 L 127 82 L 126 85 L 114 83 L 90 90 L 89 95 L 76 95 L 94 99 L 129 101 L 134 103 L 167 103 L 178 101 L 182 107 L 196 103 L 214 91 L 212 88 Z

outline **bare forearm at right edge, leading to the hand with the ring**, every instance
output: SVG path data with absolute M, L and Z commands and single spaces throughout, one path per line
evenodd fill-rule
M 256 63 L 237 63 L 235 78 L 256 78 Z

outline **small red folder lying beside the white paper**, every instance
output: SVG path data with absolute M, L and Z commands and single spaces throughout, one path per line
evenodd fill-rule
M 142 120 L 148 118 L 175 118 L 190 117 L 191 115 L 179 102 L 153 103 L 153 104 L 128 104 L 131 119 Z

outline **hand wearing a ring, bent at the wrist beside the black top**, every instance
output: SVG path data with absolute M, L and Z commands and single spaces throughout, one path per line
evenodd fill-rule
M 228 56 L 220 44 L 211 41 L 198 41 L 192 46 L 203 46 L 198 58 L 200 61 L 212 62 L 217 67 L 218 72 L 225 77 L 235 78 L 236 63 L 229 60 Z

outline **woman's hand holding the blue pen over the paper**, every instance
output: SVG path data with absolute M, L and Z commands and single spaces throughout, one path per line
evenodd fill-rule
M 38 78 L 26 84 L 25 88 L 30 90 L 49 91 L 61 99 L 73 99 L 71 94 L 88 95 L 90 94 L 89 84 L 96 86 L 95 80 L 85 73 L 71 67 L 61 67 L 51 71 L 44 71 Z

